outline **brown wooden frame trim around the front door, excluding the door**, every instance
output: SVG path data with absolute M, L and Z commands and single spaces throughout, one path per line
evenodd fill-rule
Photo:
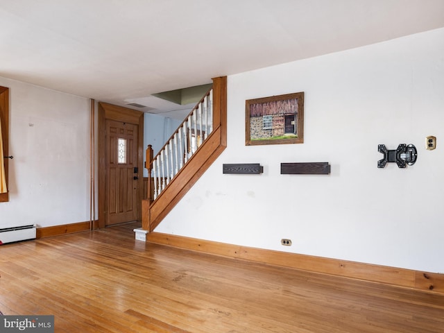
M 124 123 L 134 123 L 138 125 L 139 132 L 137 133 L 137 167 L 139 168 L 139 180 L 137 182 L 137 220 L 142 221 L 142 198 L 144 193 L 144 112 L 123 108 L 122 106 L 112 105 L 108 103 L 99 102 L 99 137 L 98 137 L 98 157 L 99 157 L 99 216 L 97 226 L 105 228 L 106 212 L 105 212 L 105 180 L 106 180 L 106 161 L 105 161 L 105 142 L 106 129 L 105 121 L 107 119 L 122 121 Z M 141 174 L 142 173 L 142 174 Z

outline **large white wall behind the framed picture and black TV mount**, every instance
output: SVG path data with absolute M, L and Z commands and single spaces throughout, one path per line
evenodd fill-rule
M 245 146 L 246 99 L 291 92 L 305 92 L 305 143 Z M 232 75 L 228 148 L 156 231 L 444 273 L 443 140 L 444 29 Z M 401 143 L 418 162 L 377 169 L 377 145 Z M 257 162 L 260 176 L 222 173 Z M 281 162 L 332 173 L 280 175 Z

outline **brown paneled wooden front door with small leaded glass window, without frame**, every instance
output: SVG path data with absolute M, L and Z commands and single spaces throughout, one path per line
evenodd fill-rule
M 105 225 L 136 221 L 138 126 L 107 119 L 105 130 Z

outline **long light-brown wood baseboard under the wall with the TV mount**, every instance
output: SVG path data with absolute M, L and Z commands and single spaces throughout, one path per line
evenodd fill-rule
M 272 264 L 289 268 L 301 269 L 316 273 L 338 275 L 344 278 L 365 280 L 390 284 L 397 287 L 418 289 L 434 293 L 444 293 L 444 274 L 413 271 L 404 268 L 349 262 L 339 259 L 300 255 L 261 248 L 248 248 L 232 244 L 205 241 L 189 237 L 151 232 L 147 241 L 153 244 L 162 244 L 195 250 L 212 255 L 221 255 L 237 259 L 246 259 L 264 264 Z

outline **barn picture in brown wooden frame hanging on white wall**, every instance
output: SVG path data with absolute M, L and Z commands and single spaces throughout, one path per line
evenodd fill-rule
M 304 142 L 304 92 L 248 99 L 245 104 L 246 146 Z

